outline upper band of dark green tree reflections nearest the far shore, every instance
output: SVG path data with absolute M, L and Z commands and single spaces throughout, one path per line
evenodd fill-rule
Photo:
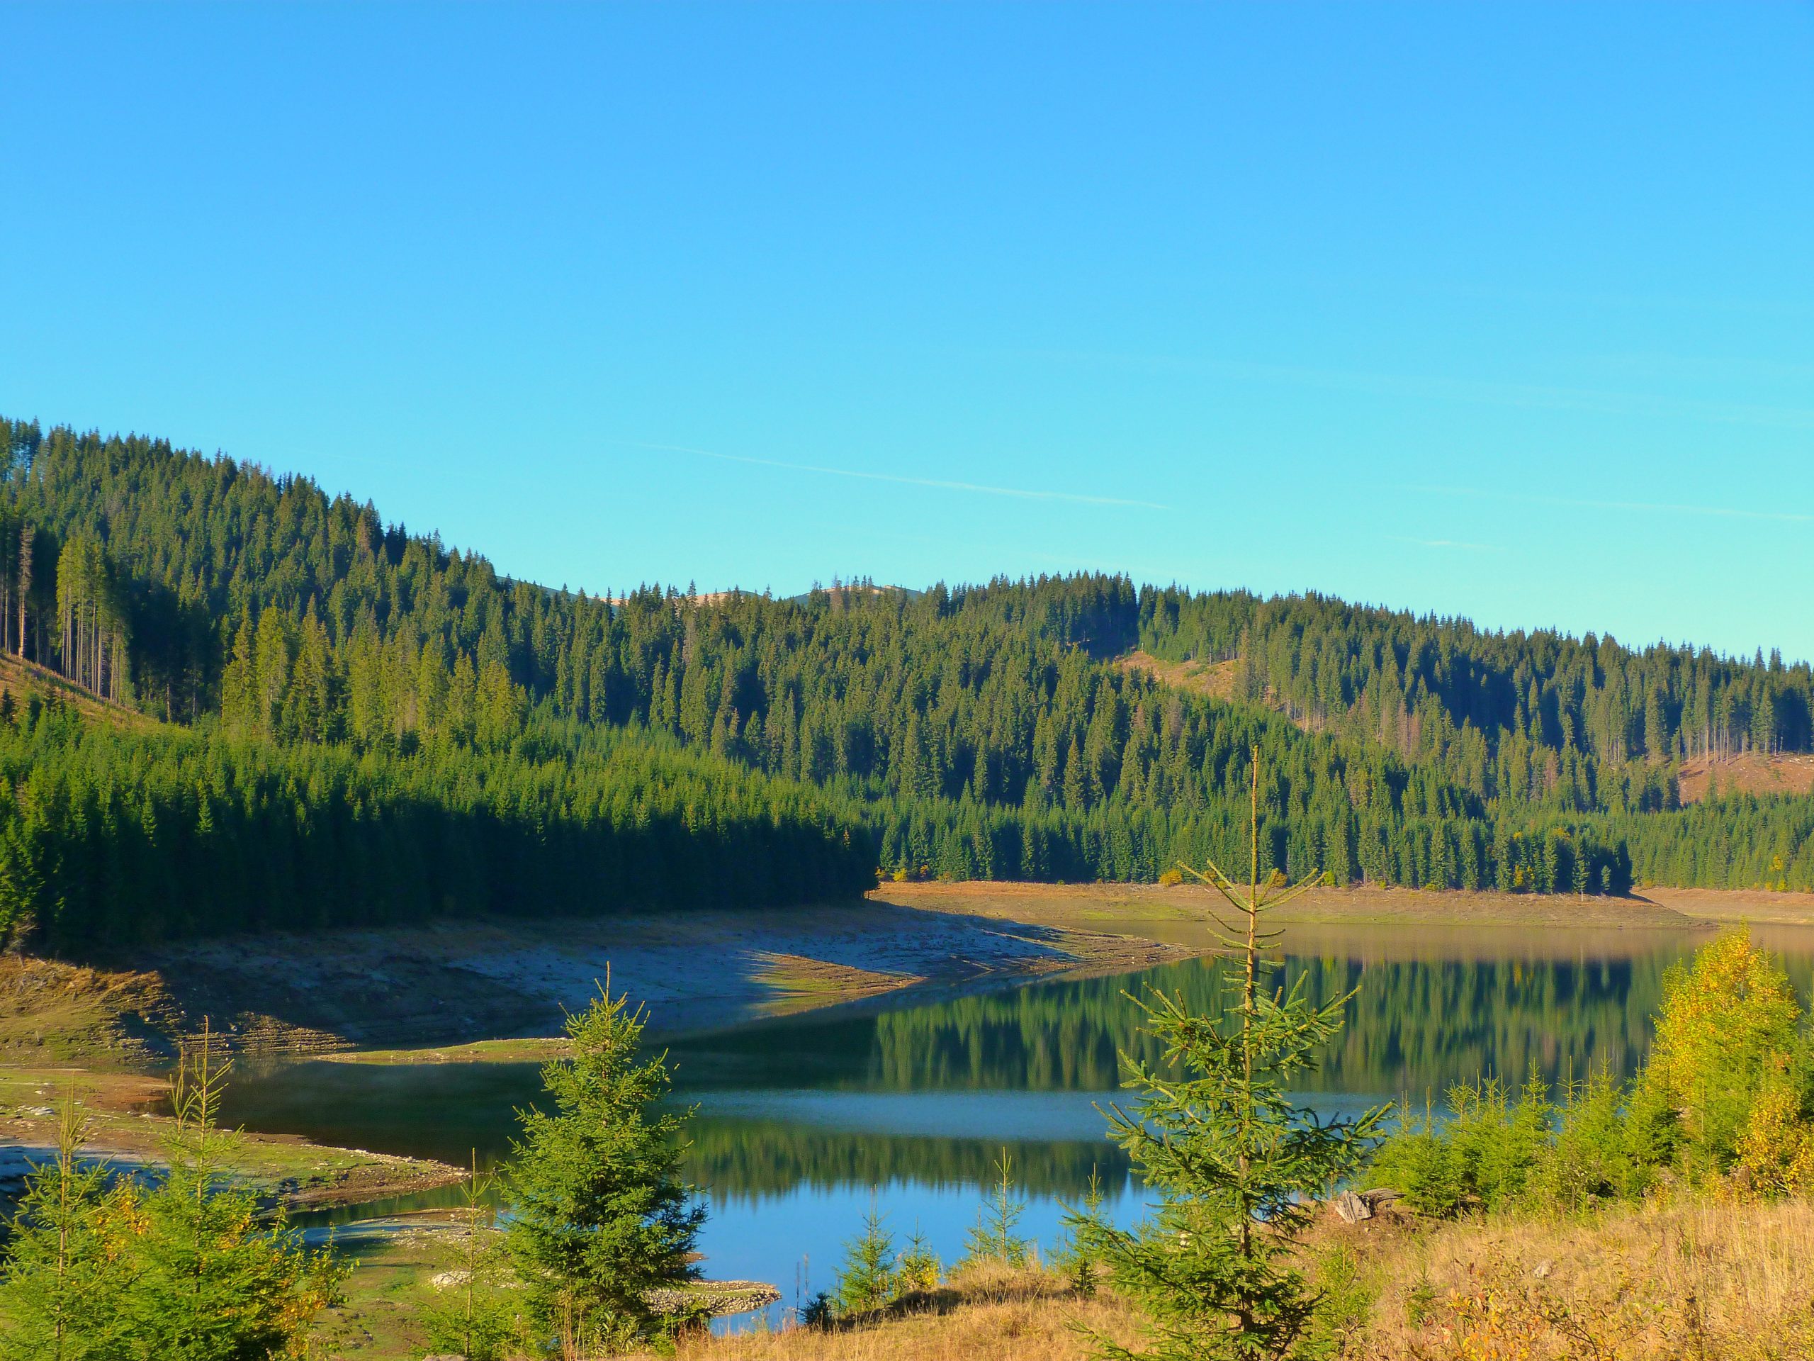
M 1292 958 L 1284 984 L 1304 978 L 1313 1000 L 1360 989 L 1341 1042 L 1304 1087 L 1440 1092 L 1480 1072 L 1522 1076 L 1533 1062 L 1551 1078 L 1589 1063 L 1631 1072 L 1674 958 L 1673 949 L 1602 960 Z M 885 1013 L 851 1078 L 887 1091 L 1110 1089 L 1117 1049 L 1159 1058 L 1125 993 L 1150 982 L 1204 1011 L 1219 1000 L 1224 967 L 1192 960 L 1139 978 L 1036 984 Z

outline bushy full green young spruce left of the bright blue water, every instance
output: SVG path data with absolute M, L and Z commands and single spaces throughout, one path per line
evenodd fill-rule
M 602 989 L 568 1016 L 571 1058 L 542 1067 L 553 1111 L 519 1111 L 506 1181 L 510 1258 L 535 1317 L 568 1350 L 648 1336 L 648 1294 L 697 1276 L 706 1210 L 680 1180 L 691 1111 L 657 1114 L 666 1054 L 639 1062 L 644 1020 Z

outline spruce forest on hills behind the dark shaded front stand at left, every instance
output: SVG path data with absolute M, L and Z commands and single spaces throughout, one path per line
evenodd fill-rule
M 1150 880 L 1230 855 L 1259 746 L 1277 771 L 1264 853 L 1286 873 L 1562 893 L 1634 876 L 1814 886 L 1805 800 L 1678 809 L 1685 757 L 1814 742 L 1809 668 L 1780 657 L 1114 575 L 923 593 L 860 581 L 796 601 L 588 595 L 502 577 L 308 479 L 165 441 L 0 421 L 0 646 L 192 729 L 216 766 L 258 749 L 297 769 L 412 771 L 446 804 L 464 788 L 455 768 L 577 768 L 617 742 L 648 760 L 684 751 L 726 789 L 787 789 L 773 797 L 811 806 L 883 875 Z M 1232 661 L 1234 697 L 1114 664 L 1134 648 Z M 82 739 L 118 748 L 122 768 L 171 760 L 158 740 Z M 297 788 L 317 786 L 332 782 Z M 352 797 L 332 788 L 328 804 Z M 18 806 L 15 789 L 0 817 Z M 200 804 L 167 817 L 187 827 Z M 844 875 L 840 860 L 822 878 Z

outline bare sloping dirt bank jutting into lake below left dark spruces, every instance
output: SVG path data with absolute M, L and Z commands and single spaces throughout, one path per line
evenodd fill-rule
M 891 902 L 229 936 L 132 969 L 0 960 L 0 1056 L 154 1069 L 203 1016 L 241 1053 L 551 1036 L 606 980 L 648 1007 L 653 1031 L 677 1034 L 920 984 L 1136 969 L 1177 953 L 1083 924 Z

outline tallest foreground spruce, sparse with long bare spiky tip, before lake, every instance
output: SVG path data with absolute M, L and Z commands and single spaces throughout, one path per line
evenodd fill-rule
M 1322 1007 L 1302 994 L 1261 987 L 1277 967 L 1266 955 L 1277 931 L 1261 916 L 1290 902 L 1315 873 L 1275 891 L 1259 875 L 1259 749 L 1253 749 L 1252 875 L 1243 893 L 1210 864 L 1195 878 L 1239 915 L 1224 942 L 1243 971 L 1230 973 L 1230 1005 L 1197 1016 L 1181 996 L 1148 991 L 1137 1002 L 1159 1042 L 1165 1071 L 1123 1054 L 1132 1111 L 1110 1105 L 1110 1132 L 1159 1192 L 1152 1216 L 1132 1230 L 1092 1219 L 1081 1238 L 1108 1265 L 1116 1288 L 1146 1314 L 1146 1350 L 1108 1337 L 1096 1343 L 1121 1361 L 1282 1361 L 1306 1356 L 1317 1294 L 1295 1267 L 1310 1203 L 1351 1174 L 1386 1116 L 1319 1120 L 1288 1100 L 1315 1065 L 1315 1051 L 1342 1027 L 1348 996 Z M 1244 927 L 1244 929 L 1243 929 Z M 1350 994 L 1351 996 L 1351 994 Z

